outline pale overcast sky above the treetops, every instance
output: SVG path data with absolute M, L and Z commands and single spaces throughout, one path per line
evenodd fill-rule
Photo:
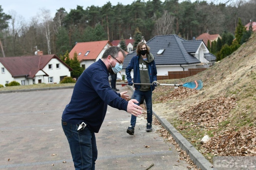
M 50 10 L 52 18 L 60 8 L 65 8 L 69 13 L 70 9 L 76 9 L 76 6 L 83 6 L 85 10 L 87 6 L 103 6 L 107 2 L 117 5 L 118 2 L 123 5 L 133 3 L 135 0 L 1 0 L 3 12 L 12 14 L 16 11 L 16 16 L 22 16 L 25 21 L 29 21 L 32 17 L 37 16 L 40 9 Z M 147 2 L 148 0 L 144 0 Z M 164 2 L 164 0 L 162 0 Z

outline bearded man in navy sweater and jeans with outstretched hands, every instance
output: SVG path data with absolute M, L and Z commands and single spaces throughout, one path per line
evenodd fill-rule
M 91 64 L 78 78 L 70 103 L 62 114 L 62 128 L 68 139 L 76 170 L 94 170 L 97 146 L 94 133 L 98 133 L 107 112 L 107 105 L 124 110 L 134 116 L 142 108 L 127 101 L 127 91 L 117 93 L 109 85 L 109 73 L 122 69 L 125 52 L 113 46 L 107 48 L 102 59 Z

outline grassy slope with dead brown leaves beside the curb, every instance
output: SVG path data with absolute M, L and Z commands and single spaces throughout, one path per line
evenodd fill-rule
M 169 120 L 210 161 L 214 155 L 256 156 L 255 47 L 256 32 L 232 55 L 206 71 L 185 79 L 159 81 L 184 83 L 201 79 L 204 87 L 200 91 L 170 87 L 157 87 L 154 91 L 153 110 Z M 202 145 L 204 135 L 211 136 L 212 141 Z

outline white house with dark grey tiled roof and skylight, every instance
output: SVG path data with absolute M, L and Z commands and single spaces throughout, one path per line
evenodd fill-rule
M 203 40 L 185 40 L 178 35 L 158 35 L 147 41 L 154 56 L 157 76 L 167 76 L 170 71 L 209 68 L 216 57 L 209 53 Z M 122 74 L 136 51 L 129 53 L 123 64 Z M 131 71 L 133 77 L 133 70 Z

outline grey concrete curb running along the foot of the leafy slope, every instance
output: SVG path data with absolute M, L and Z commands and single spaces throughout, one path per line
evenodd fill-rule
M 131 86 L 130 89 L 134 91 L 134 88 Z M 190 156 L 190 159 L 193 163 L 201 170 L 213 170 L 213 165 L 198 151 L 194 146 L 184 138 L 174 127 L 163 117 L 157 115 L 154 111 L 153 114 L 156 116 L 157 120 L 161 125 L 172 135 L 173 139 L 179 144 L 180 148 Z

